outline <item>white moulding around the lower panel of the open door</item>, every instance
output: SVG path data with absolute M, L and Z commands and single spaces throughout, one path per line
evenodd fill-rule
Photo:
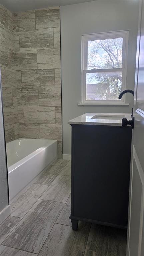
M 131 200 L 132 200 L 132 181 L 133 181 L 133 161 L 135 159 L 135 163 L 137 166 L 137 170 L 140 176 L 140 180 L 142 183 L 142 193 L 141 193 L 141 211 L 140 211 L 140 227 L 139 227 L 139 245 L 138 245 L 138 256 L 141 255 L 141 246 L 142 246 L 142 229 L 143 229 L 143 218 L 144 218 L 144 173 L 138 159 L 135 147 L 133 146 L 133 158 L 132 158 L 132 177 L 131 177 L 131 194 L 130 194 L 130 218 L 129 218 L 129 234 L 128 234 L 128 253 L 130 255 L 130 225 L 131 225 Z

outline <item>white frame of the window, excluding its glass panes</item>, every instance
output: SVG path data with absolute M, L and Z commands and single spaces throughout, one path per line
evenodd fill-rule
M 81 104 L 83 105 L 125 105 L 125 95 L 121 100 L 86 100 L 86 74 L 87 73 L 98 73 L 98 72 L 111 72 L 111 71 L 122 71 L 122 91 L 126 89 L 126 73 L 127 73 L 127 57 L 128 57 L 128 36 L 129 31 L 117 31 L 107 33 L 97 33 L 91 35 L 82 35 L 81 41 Z M 87 69 L 87 52 L 88 52 L 88 41 L 111 39 L 111 38 L 123 38 L 123 49 L 122 49 L 122 68 L 112 69 Z

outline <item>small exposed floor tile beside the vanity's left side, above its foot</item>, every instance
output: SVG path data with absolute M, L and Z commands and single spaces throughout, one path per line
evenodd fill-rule
M 62 225 L 67 225 L 67 226 L 72 226 L 71 220 L 69 219 L 70 214 L 71 214 L 71 206 L 65 205 L 64 208 L 62 209 L 60 215 L 58 216 L 56 223 L 62 224 Z

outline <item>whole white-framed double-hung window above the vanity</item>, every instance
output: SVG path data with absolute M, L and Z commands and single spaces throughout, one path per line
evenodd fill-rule
M 81 103 L 120 104 L 125 89 L 128 31 L 82 36 Z

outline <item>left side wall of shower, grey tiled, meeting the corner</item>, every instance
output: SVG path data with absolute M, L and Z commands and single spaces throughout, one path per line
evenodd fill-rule
M 13 32 L 12 13 L 0 5 L 0 66 L 6 141 L 18 135 L 18 107 L 15 51 L 19 50 L 19 32 Z

